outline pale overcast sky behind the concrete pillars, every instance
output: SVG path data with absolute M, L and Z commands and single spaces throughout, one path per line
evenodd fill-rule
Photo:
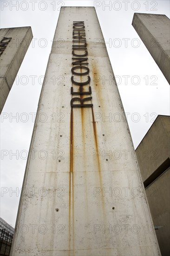
M 1 28 L 31 26 L 33 31 L 33 41 L 2 111 L 8 118 L 3 119 L 1 115 L 0 124 L 1 187 L 7 192 L 1 194 L 1 217 L 14 226 L 26 167 L 26 154 L 20 156 L 20 152 L 29 151 L 34 124 L 30 113 L 37 111 L 60 7 L 96 7 L 134 147 L 137 148 L 157 115 L 170 115 L 170 86 L 131 22 L 135 12 L 170 17 L 170 1 L 0 0 L 0 5 Z M 128 76 L 127 81 L 125 76 Z M 28 121 L 23 121 L 22 113 L 27 114 Z M 8 155 L 2 157 L 4 150 Z M 12 155 L 17 150 L 18 157 Z

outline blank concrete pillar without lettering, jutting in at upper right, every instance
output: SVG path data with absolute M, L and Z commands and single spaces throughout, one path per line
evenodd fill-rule
M 170 19 L 162 14 L 134 13 L 132 26 L 170 84 Z

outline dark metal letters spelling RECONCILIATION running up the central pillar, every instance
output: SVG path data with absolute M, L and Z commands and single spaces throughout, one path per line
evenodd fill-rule
M 86 101 L 92 100 L 92 97 L 83 98 L 82 95 L 90 95 L 92 94 L 92 89 L 89 86 L 88 91 L 84 91 L 83 87 L 88 85 L 91 81 L 89 76 L 89 68 L 88 66 L 88 52 L 87 52 L 87 42 L 85 35 L 85 24 L 84 21 L 73 21 L 73 32 L 72 32 L 72 84 L 75 86 L 79 86 L 79 91 L 74 91 L 73 87 L 71 87 L 72 95 L 79 95 L 79 97 L 73 97 L 71 100 L 72 108 L 85 108 L 92 107 L 93 104 L 87 104 Z M 81 51 L 81 54 L 78 54 Z M 83 53 L 82 53 L 83 52 Z M 78 72 L 80 70 L 80 72 Z M 82 82 L 82 76 L 86 75 L 87 80 Z M 78 76 L 80 78 L 80 82 L 74 80 L 74 76 Z M 74 101 L 78 101 L 79 104 L 76 104 Z

